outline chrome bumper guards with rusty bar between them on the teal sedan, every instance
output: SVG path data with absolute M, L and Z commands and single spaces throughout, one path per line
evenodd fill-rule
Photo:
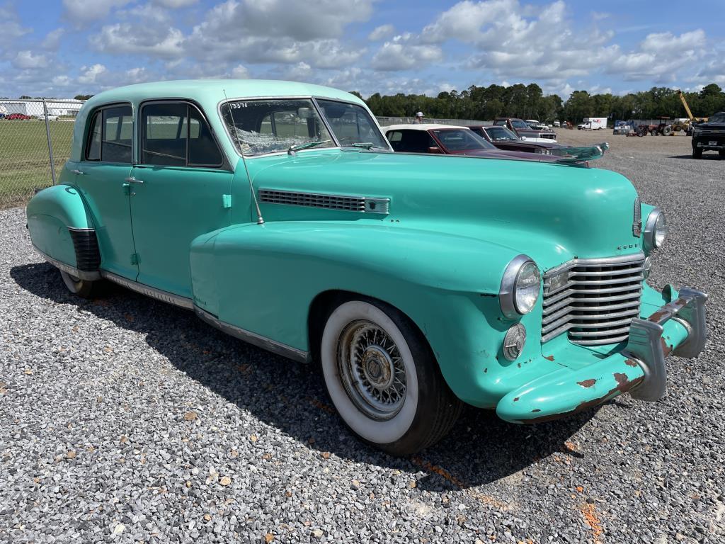
M 671 294 L 669 285 L 663 293 Z M 696 357 L 705 347 L 707 330 L 705 327 L 705 302 L 708 295 L 683 287 L 678 297 L 664 305 L 649 318 L 633 319 L 629 329 L 629 339 L 624 353 L 633 359 L 645 373 L 645 381 L 629 391 L 639 400 L 660 400 L 667 387 L 667 368 L 665 357 L 669 348 L 662 337 L 663 325 L 670 319 L 677 321 L 687 329 L 687 339 L 673 351 L 680 357 Z

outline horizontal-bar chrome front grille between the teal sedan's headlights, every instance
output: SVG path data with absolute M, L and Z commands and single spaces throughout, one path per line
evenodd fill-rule
M 542 342 L 563 332 L 579 345 L 626 340 L 629 323 L 639 316 L 644 264 L 638 253 L 575 259 L 545 273 Z

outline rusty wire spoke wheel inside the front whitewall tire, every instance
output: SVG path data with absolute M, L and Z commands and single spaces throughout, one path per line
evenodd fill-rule
M 407 375 L 389 334 L 372 321 L 349 323 L 338 342 L 339 374 L 347 395 L 370 419 L 392 419 L 402 408 Z

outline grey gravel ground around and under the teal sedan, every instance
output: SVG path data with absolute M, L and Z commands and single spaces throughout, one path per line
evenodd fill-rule
M 87 302 L 0 212 L 0 541 L 655 543 L 725 540 L 725 162 L 610 139 L 598 166 L 667 210 L 650 281 L 711 294 L 711 337 L 628 395 L 514 426 L 468 409 L 409 459 L 360 445 L 314 369 L 120 288 Z

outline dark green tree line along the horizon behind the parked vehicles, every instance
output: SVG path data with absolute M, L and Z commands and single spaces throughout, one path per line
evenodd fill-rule
M 353 94 L 360 96 L 359 93 Z M 725 93 L 716 83 L 705 86 L 702 91 L 684 95 L 695 117 L 708 117 L 725 111 Z M 544 96 L 542 88 L 536 83 L 517 83 L 508 87 L 472 85 L 460 93 L 444 91 L 435 97 L 402 93 L 381 96 L 376 93 L 365 99 L 365 103 L 375 115 L 382 117 L 414 117 L 416 112 L 423 112 L 427 118 L 492 120 L 516 117 L 549 123 L 555 119 L 580 123 L 585 117 L 613 120 L 687 117 L 676 89 L 668 87 L 653 87 L 649 91 L 624 96 L 574 91 L 565 102 L 557 94 Z

